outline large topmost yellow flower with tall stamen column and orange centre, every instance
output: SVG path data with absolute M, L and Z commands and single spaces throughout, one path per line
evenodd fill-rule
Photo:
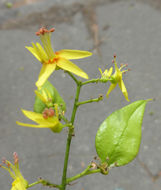
M 91 56 L 92 53 L 88 51 L 68 49 L 54 52 L 50 39 L 51 32 L 54 30 L 54 28 L 50 30 L 41 28 L 36 32 L 36 35 L 40 36 L 43 47 L 39 43 L 32 43 L 33 47 L 26 47 L 42 63 L 42 68 L 38 81 L 36 82 L 36 86 L 41 87 L 55 69 L 63 69 L 88 79 L 88 75 L 69 60 L 88 57 Z

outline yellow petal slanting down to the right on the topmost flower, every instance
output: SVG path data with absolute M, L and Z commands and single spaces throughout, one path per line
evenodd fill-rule
M 57 61 L 57 66 L 82 78 L 88 79 L 88 75 L 83 70 L 67 59 L 59 58 Z

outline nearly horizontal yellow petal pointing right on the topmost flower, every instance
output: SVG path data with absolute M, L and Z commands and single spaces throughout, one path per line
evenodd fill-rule
M 70 49 L 62 49 L 56 52 L 56 54 L 65 59 L 81 59 L 92 55 L 92 53 L 89 51 L 70 50 Z

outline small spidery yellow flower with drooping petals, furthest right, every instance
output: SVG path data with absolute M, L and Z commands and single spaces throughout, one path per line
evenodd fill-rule
M 126 99 L 127 101 L 130 101 L 130 100 L 128 99 L 128 92 L 127 92 L 127 90 L 126 90 L 125 84 L 124 84 L 124 82 L 123 82 L 123 80 L 122 80 L 122 74 L 125 73 L 125 72 L 128 71 L 128 70 L 123 70 L 123 71 L 121 71 L 121 69 L 123 69 L 124 67 L 126 67 L 127 64 L 122 65 L 120 68 L 118 68 L 117 62 L 116 62 L 116 56 L 115 56 L 115 55 L 114 55 L 113 63 L 115 64 L 115 73 L 111 76 L 111 80 L 110 80 L 110 81 L 111 81 L 112 84 L 111 84 L 111 86 L 109 87 L 106 96 L 108 97 L 109 94 L 111 93 L 111 91 L 112 91 L 112 90 L 116 87 L 116 85 L 118 84 L 119 87 L 120 87 L 120 89 L 121 89 L 121 91 L 122 91 L 122 93 L 123 93 L 123 95 L 124 95 L 124 97 L 125 97 L 125 99 Z

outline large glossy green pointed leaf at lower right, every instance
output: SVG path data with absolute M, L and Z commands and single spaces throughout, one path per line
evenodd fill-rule
M 122 166 L 136 157 L 146 104 L 147 100 L 133 102 L 103 121 L 95 139 L 96 151 L 102 162 Z

